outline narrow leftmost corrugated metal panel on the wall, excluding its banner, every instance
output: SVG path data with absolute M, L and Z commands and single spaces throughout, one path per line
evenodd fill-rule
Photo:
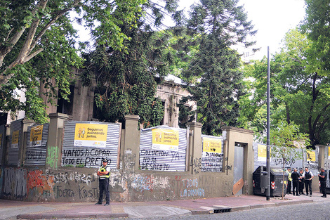
M 19 119 L 17 121 L 11 122 L 11 136 L 9 137 L 9 147 L 8 147 L 8 165 L 18 165 L 18 155 L 20 153 L 21 148 L 21 139 L 22 139 L 22 120 Z M 13 132 L 19 131 L 19 137 L 18 137 L 18 148 L 12 147 L 12 139 L 13 139 Z

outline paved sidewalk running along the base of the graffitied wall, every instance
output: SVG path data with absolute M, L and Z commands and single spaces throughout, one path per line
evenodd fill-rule
M 286 195 L 284 200 L 281 198 L 270 198 L 270 201 L 261 196 L 241 195 L 197 200 L 110 202 L 110 205 L 106 207 L 94 205 L 94 202 L 20 202 L 0 200 L 0 219 L 108 219 L 111 217 L 144 218 L 180 214 L 213 214 L 260 207 L 330 201 L 330 195 L 328 198 L 321 198 L 321 195 L 321 193 L 314 193 L 312 197 L 306 195 Z

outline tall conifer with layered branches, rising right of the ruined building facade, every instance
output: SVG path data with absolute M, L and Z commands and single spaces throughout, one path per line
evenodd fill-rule
M 239 54 L 230 46 L 251 46 L 246 37 L 255 34 L 237 2 L 201 1 L 192 6 L 187 22 L 198 51 L 182 76 L 192 94 L 189 100 L 197 103 L 197 122 L 203 123 L 204 134 L 218 135 L 224 125 L 237 126 L 243 75 Z

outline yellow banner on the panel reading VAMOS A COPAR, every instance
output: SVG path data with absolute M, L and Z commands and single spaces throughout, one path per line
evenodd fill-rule
M 74 146 L 105 148 L 107 124 L 76 124 Z

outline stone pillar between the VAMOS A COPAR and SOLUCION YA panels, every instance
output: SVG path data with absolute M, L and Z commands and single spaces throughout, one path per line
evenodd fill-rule
M 138 130 L 138 115 L 125 115 L 124 131 L 124 172 L 138 170 L 140 160 L 140 131 Z

